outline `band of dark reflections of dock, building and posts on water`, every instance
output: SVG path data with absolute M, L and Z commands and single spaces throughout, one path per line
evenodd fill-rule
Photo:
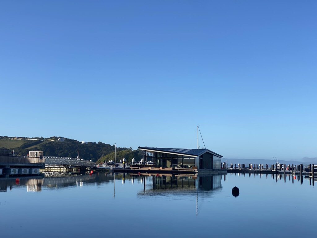
M 261 173 L 230 173 L 233 176 L 249 176 L 260 178 L 271 178 L 275 182 L 309 182 L 314 186 L 317 177 L 308 175 L 290 175 L 290 174 L 261 174 Z M 85 184 L 97 184 L 113 182 L 113 198 L 115 198 L 115 181 L 120 180 L 124 185 L 126 181 L 133 185 L 135 182 L 143 185 L 143 191 L 137 193 L 138 196 L 184 194 L 190 195 L 197 190 L 204 192 L 202 195 L 211 194 L 216 189 L 221 189 L 221 181 L 228 182 L 227 175 L 213 176 L 192 176 L 192 175 L 168 175 L 168 174 L 114 174 L 114 173 L 95 173 L 95 174 L 61 174 L 46 173 L 37 176 L 24 177 L 0 177 L 0 192 L 6 192 L 17 187 L 26 187 L 27 192 L 41 192 L 42 188 L 59 189 L 68 186 L 78 186 L 82 188 Z

